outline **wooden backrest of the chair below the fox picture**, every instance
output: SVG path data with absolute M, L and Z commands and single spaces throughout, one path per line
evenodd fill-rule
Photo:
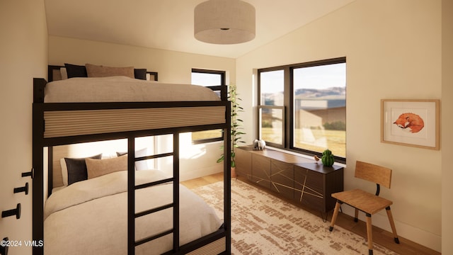
M 355 177 L 390 188 L 391 169 L 357 161 L 355 163 Z

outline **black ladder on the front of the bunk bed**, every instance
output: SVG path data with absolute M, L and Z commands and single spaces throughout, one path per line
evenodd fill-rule
M 146 242 L 151 242 L 154 239 L 164 237 L 168 234 L 173 234 L 173 252 L 179 250 L 179 133 L 173 133 L 173 152 L 164 154 L 155 154 L 147 157 L 135 158 L 135 137 L 127 139 L 128 158 L 127 158 L 127 254 L 135 254 L 135 247 Z M 134 164 L 137 161 L 146 159 L 156 159 L 159 157 L 173 156 L 173 178 L 162 179 L 159 181 L 152 181 L 150 183 L 143 183 L 135 185 L 135 171 Z M 132 169 L 132 170 L 131 170 Z M 173 182 L 173 203 L 161 205 L 157 208 L 151 208 L 142 212 L 135 212 L 135 191 L 141 188 L 148 188 L 151 186 L 160 185 L 163 183 Z M 154 212 L 173 208 L 173 228 L 154 236 L 146 237 L 144 239 L 135 239 L 135 219 Z

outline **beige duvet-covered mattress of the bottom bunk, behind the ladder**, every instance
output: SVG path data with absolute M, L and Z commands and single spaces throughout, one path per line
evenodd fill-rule
M 165 179 L 161 171 L 136 171 L 136 185 Z M 180 245 L 217 231 L 222 225 L 202 198 L 180 185 Z M 135 191 L 135 212 L 173 202 L 173 184 Z M 135 220 L 135 239 L 173 227 L 173 208 Z M 47 199 L 44 254 L 127 254 L 127 171 L 73 183 Z M 135 254 L 173 249 L 173 234 L 135 248 Z

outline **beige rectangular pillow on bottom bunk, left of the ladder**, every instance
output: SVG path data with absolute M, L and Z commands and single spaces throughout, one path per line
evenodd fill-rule
M 88 179 L 92 179 L 115 171 L 127 170 L 127 155 L 112 159 L 85 159 Z

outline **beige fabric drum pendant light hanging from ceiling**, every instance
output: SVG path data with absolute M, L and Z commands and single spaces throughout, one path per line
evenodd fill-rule
M 209 0 L 195 7 L 195 38 L 236 44 L 255 38 L 255 8 L 241 0 Z

